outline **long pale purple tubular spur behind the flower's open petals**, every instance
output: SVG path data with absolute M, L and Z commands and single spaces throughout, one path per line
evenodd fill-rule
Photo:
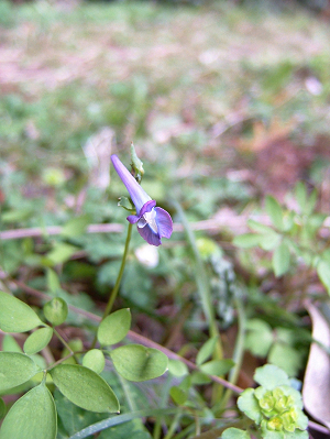
M 132 201 L 135 206 L 136 213 L 140 213 L 142 207 L 151 200 L 151 197 L 142 189 L 129 169 L 121 163 L 116 154 L 111 155 L 111 161 L 114 169 L 120 176 L 122 183 L 125 185 Z

